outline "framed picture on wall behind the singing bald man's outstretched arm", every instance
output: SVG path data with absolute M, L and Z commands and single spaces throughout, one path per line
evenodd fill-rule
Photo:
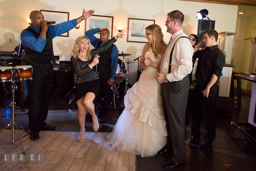
M 40 10 L 40 12 L 42 12 L 42 14 L 44 15 L 44 20 L 55 21 L 56 23 L 53 25 L 57 25 L 65 21 L 69 21 L 69 12 L 47 11 L 47 10 Z M 59 36 L 69 37 L 69 32 L 63 33 Z

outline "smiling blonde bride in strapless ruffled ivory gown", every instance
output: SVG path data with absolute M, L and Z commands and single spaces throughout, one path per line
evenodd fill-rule
M 139 69 L 144 70 L 139 81 L 127 91 L 125 108 L 114 126 L 109 143 L 119 151 L 150 157 L 167 142 L 161 85 L 155 80 L 167 45 L 160 26 L 154 24 L 145 29 L 149 44 L 144 46 L 139 64 Z

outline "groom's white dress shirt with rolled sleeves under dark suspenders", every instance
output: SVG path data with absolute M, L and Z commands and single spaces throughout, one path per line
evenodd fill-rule
M 192 71 L 192 56 L 194 49 L 189 39 L 178 39 L 182 36 L 187 37 L 182 29 L 172 34 L 172 40 L 162 57 L 163 59 L 161 62 L 162 65 L 160 66 L 160 73 L 166 75 L 169 81 L 180 81 Z M 171 73 L 168 73 L 170 53 L 176 41 L 177 43 L 175 44 L 172 52 Z

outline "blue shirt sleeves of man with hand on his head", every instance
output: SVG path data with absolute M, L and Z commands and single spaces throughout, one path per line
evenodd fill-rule
M 88 30 L 85 32 L 85 36 L 89 38 L 92 46 L 94 48 L 96 48 L 98 42 L 100 41 L 99 39 L 97 39 L 94 34 L 96 34 L 97 32 L 100 31 L 100 28 L 94 28 L 91 30 Z M 101 43 L 101 46 L 104 43 Z M 111 53 L 111 76 L 110 78 L 114 79 L 116 78 L 116 71 L 117 71 L 117 62 L 118 62 L 118 49 L 116 47 L 116 45 L 113 46 L 112 48 L 112 53 Z

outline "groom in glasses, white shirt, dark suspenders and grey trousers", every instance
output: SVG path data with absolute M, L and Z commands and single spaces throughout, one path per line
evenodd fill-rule
M 184 15 L 175 10 L 167 14 L 165 25 L 172 34 L 170 42 L 162 56 L 156 81 L 162 84 L 162 102 L 167 128 L 167 144 L 158 151 L 164 154 L 172 149 L 174 156 L 164 163 L 165 169 L 171 169 L 186 163 L 185 154 L 185 112 L 187 106 L 192 71 L 193 47 L 190 39 L 181 28 Z

